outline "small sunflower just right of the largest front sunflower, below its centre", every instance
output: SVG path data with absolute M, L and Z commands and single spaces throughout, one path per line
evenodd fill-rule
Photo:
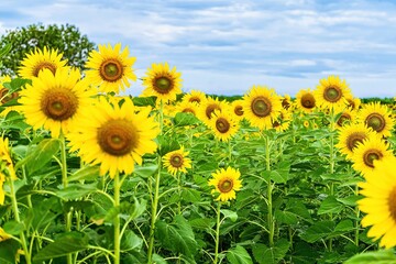
M 187 157 L 189 152 L 185 152 L 184 146 L 179 150 L 166 153 L 162 161 L 166 169 L 175 176 L 178 172 L 187 173 L 191 168 L 191 160 Z

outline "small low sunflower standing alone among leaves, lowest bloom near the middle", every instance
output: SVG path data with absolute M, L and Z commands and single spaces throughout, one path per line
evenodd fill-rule
M 209 186 L 215 186 L 213 193 L 219 193 L 217 200 L 228 201 L 235 199 L 235 191 L 242 187 L 242 180 L 240 180 L 241 173 L 239 169 L 228 167 L 227 169 L 220 168 L 211 174 L 212 179 L 209 180 Z

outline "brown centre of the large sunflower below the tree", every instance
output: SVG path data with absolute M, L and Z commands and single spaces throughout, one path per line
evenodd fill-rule
M 78 108 L 78 98 L 68 89 L 53 89 L 44 94 L 41 110 L 53 120 L 63 121 L 72 118 Z

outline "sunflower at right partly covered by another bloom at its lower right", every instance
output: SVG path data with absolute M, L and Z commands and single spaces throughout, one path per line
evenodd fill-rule
M 336 144 L 336 147 L 338 147 L 342 154 L 346 155 L 348 160 L 351 160 L 358 143 L 363 143 L 364 140 L 375 136 L 377 136 L 377 134 L 362 123 L 345 124 L 339 130 L 339 142 Z

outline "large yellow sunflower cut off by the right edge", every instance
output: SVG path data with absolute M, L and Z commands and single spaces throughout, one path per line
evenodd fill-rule
M 360 183 L 360 194 L 364 196 L 358 201 L 359 209 L 366 215 L 362 227 L 371 227 L 367 232 L 373 240 L 381 239 L 380 246 L 391 249 L 396 245 L 396 157 L 375 162 L 373 177 Z

